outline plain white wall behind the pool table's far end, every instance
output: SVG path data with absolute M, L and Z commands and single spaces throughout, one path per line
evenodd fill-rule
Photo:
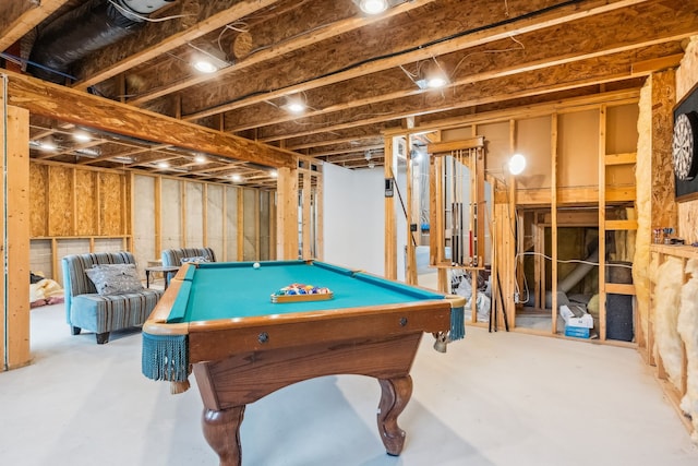
M 384 275 L 383 167 L 323 166 L 323 260 Z

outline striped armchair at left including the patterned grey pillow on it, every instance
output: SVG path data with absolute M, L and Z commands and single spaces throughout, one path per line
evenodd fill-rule
M 100 345 L 112 331 L 142 325 L 163 295 L 143 288 L 130 252 L 67 255 L 62 268 L 65 319 L 72 334 L 95 332 Z

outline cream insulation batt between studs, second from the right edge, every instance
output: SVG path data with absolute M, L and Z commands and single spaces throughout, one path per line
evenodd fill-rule
M 654 297 L 654 331 L 657 351 L 664 362 L 670 382 L 681 387 L 683 350 L 678 335 L 678 310 L 684 278 L 683 261 L 667 258 L 658 272 Z

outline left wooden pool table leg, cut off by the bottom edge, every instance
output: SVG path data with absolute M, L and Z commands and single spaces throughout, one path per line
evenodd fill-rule
M 220 466 L 240 466 L 240 425 L 244 417 L 244 405 L 219 411 L 204 408 L 202 419 L 204 437 L 218 454 Z

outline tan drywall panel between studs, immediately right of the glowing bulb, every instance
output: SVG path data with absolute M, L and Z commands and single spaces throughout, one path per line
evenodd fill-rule
M 557 186 L 595 188 L 598 184 L 599 110 L 558 115 Z

